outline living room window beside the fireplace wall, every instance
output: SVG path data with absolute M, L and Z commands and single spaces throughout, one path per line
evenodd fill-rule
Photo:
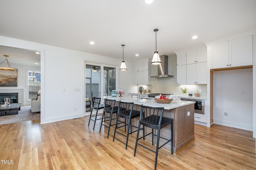
M 39 90 L 41 90 L 41 72 L 28 71 L 28 100 L 36 98 Z

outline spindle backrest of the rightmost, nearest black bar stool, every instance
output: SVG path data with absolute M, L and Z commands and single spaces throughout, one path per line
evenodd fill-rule
M 140 111 L 140 124 L 152 129 L 158 129 L 162 122 L 163 113 L 164 107 L 142 105 Z

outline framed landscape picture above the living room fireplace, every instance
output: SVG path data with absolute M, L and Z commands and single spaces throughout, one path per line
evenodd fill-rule
M 17 87 L 18 69 L 0 70 L 0 87 Z

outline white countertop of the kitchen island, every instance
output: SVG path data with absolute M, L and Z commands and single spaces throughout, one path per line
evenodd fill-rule
M 164 109 L 170 110 L 175 109 L 177 107 L 182 107 L 190 104 L 194 104 L 195 102 L 192 101 L 184 101 L 184 100 L 176 100 L 170 102 L 170 104 L 160 104 L 157 103 L 154 99 L 138 99 L 138 98 L 131 98 L 130 96 L 120 97 L 112 97 L 112 96 L 104 96 L 103 98 L 112 99 L 116 101 L 122 102 L 134 102 L 137 105 L 145 105 L 145 106 L 152 106 L 152 107 L 164 107 Z

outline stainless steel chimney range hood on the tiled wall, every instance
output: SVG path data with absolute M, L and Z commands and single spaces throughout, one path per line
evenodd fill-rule
M 162 63 L 158 65 L 158 76 L 151 76 L 151 78 L 173 77 L 173 75 L 168 75 L 168 56 L 161 55 L 159 57 Z

